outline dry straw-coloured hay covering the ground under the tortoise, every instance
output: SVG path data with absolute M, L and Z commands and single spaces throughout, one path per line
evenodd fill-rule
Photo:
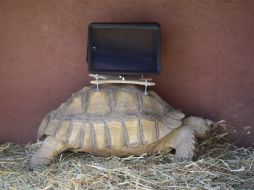
M 195 162 L 174 155 L 98 157 L 63 153 L 47 167 L 28 171 L 39 144 L 0 146 L 0 189 L 254 189 L 254 149 L 201 142 Z M 221 141 L 221 140 L 220 140 Z

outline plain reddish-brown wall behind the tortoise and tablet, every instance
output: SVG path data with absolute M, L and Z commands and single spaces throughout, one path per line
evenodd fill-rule
M 0 0 L 0 143 L 35 140 L 43 116 L 88 84 L 90 22 L 162 29 L 155 90 L 187 114 L 225 119 L 254 143 L 252 0 Z

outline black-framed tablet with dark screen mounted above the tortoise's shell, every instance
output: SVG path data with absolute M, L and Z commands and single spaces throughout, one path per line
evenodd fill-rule
M 91 73 L 158 73 L 158 24 L 90 24 L 88 63 Z

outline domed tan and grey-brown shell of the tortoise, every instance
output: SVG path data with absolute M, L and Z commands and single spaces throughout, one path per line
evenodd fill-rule
M 181 126 L 184 116 L 153 91 L 145 95 L 134 85 L 102 85 L 99 91 L 89 86 L 43 119 L 38 138 L 53 136 L 85 152 L 129 155 Z

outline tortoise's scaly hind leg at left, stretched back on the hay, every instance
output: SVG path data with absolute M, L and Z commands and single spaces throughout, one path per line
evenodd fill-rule
M 62 141 L 57 140 L 55 137 L 46 137 L 41 148 L 30 159 L 28 167 L 32 170 L 41 166 L 47 166 L 56 155 L 67 149 L 68 147 Z

